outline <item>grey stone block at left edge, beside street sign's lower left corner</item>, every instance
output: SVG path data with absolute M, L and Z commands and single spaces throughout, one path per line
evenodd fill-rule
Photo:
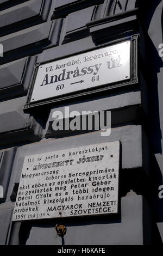
M 26 96 L 0 102 L 1 146 L 40 139 L 40 125 L 31 115 L 23 112 L 25 102 Z

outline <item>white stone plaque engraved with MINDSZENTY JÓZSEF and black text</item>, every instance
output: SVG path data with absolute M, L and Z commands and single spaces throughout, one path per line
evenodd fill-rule
M 120 142 L 26 156 L 13 221 L 117 214 Z

